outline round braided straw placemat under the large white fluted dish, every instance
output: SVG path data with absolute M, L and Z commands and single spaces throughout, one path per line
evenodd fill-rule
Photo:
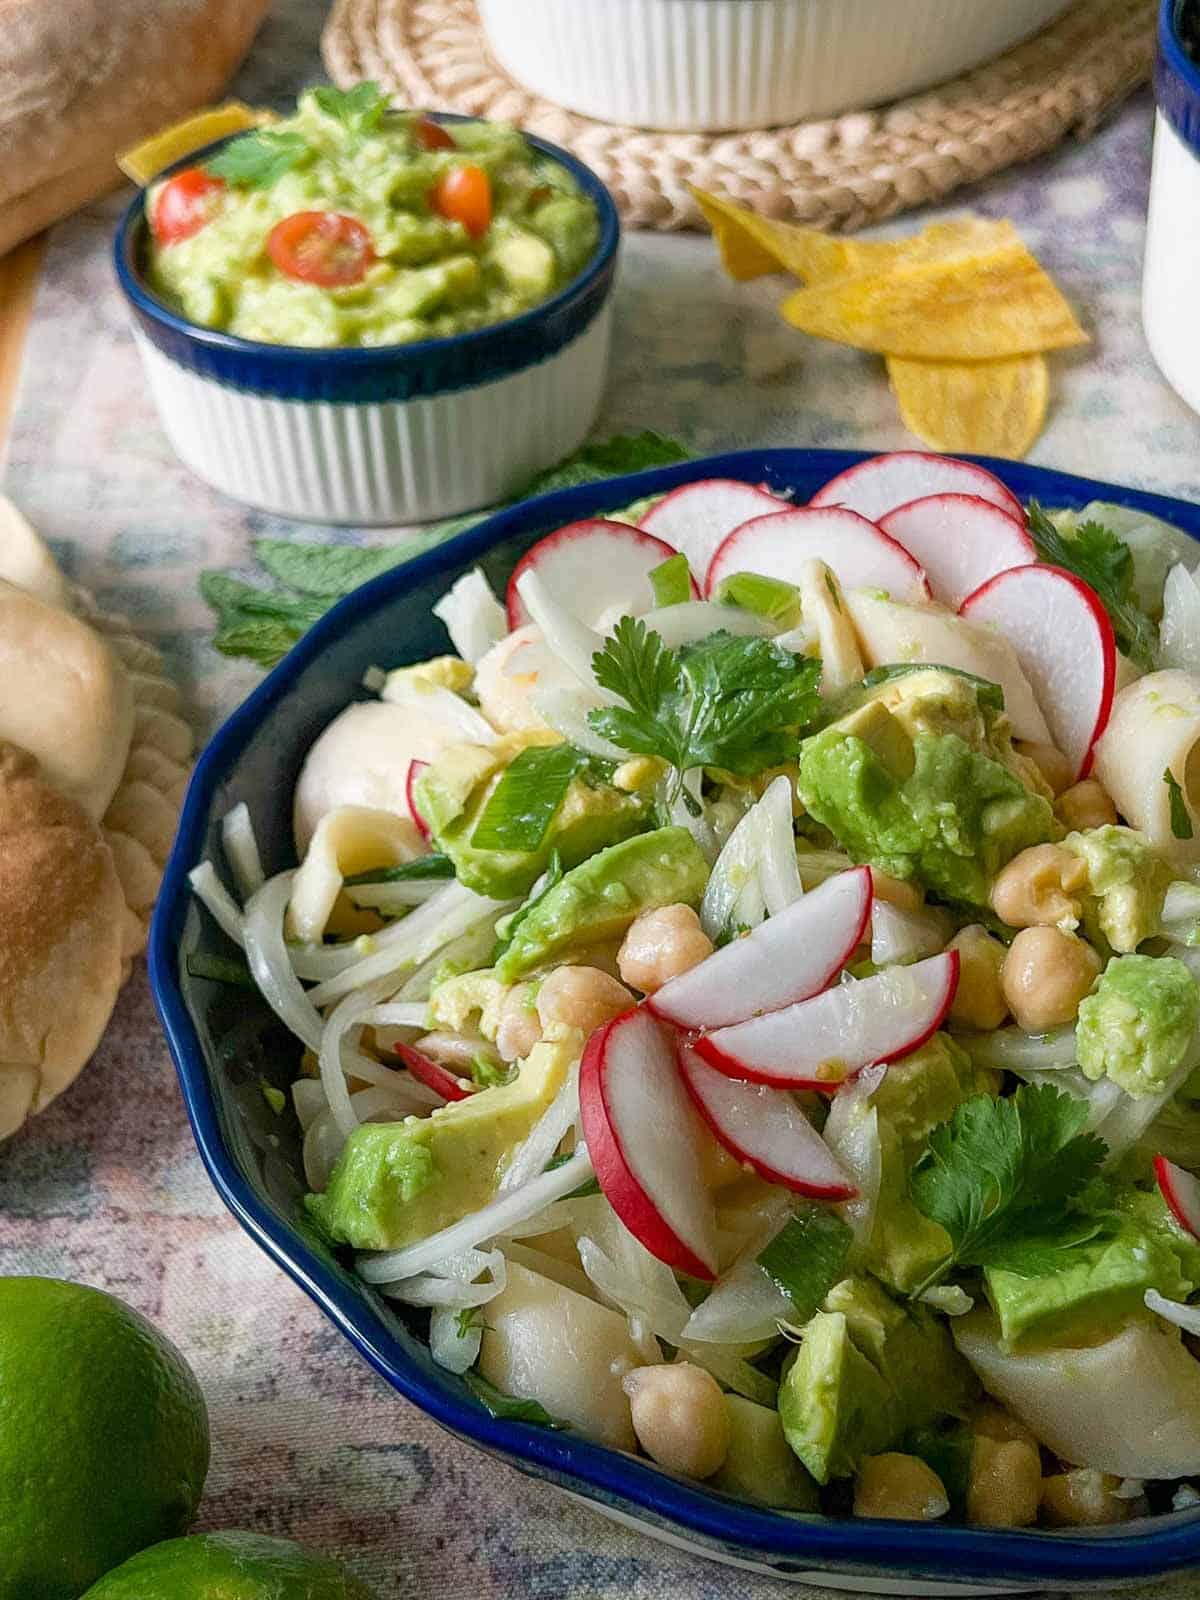
M 880 110 L 755 133 L 645 133 L 563 110 L 506 77 L 474 0 L 336 0 L 322 53 L 342 86 L 515 122 L 574 150 L 634 227 L 702 227 L 688 184 L 853 232 L 1080 138 L 1142 83 L 1155 0 L 1082 0 L 986 67 Z

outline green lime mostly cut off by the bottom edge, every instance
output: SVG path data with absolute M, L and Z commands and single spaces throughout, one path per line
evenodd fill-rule
M 261 1533 L 194 1533 L 133 1555 L 85 1600 L 374 1600 L 341 1562 Z

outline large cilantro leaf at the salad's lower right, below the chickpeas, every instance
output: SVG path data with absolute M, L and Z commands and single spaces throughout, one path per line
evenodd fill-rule
M 1078 1208 L 1107 1155 L 1102 1139 L 1082 1131 L 1086 1117 L 1072 1094 L 1024 1083 L 1010 1099 L 974 1094 L 933 1130 L 909 1194 L 952 1250 L 914 1296 L 957 1267 L 1058 1270 L 1064 1250 L 1102 1232 L 1106 1218 Z

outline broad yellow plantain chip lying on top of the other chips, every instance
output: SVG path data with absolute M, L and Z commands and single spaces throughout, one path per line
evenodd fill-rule
M 925 362 L 989 362 L 1088 341 L 1019 240 L 818 283 L 779 310 L 818 339 Z

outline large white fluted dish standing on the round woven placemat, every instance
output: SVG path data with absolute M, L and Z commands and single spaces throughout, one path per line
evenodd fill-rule
M 478 0 L 493 54 L 600 122 L 720 131 L 944 83 L 1070 0 Z

